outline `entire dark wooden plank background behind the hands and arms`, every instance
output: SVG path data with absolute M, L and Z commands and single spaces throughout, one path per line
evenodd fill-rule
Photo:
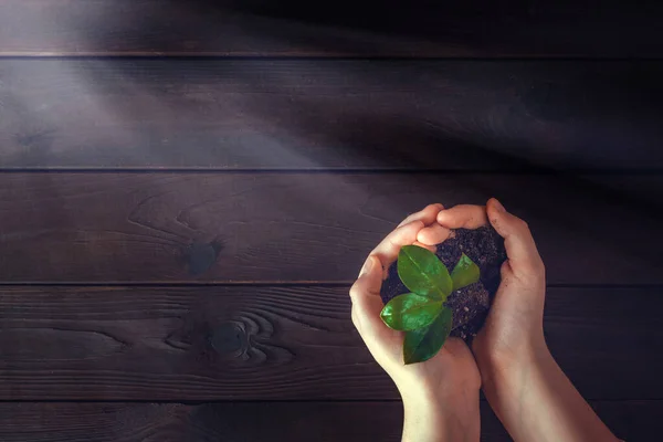
M 656 440 L 661 12 L 0 0 L 0 440 L 398 441 L 347 291 L 408 213 L 493 196 L 559 364 Z

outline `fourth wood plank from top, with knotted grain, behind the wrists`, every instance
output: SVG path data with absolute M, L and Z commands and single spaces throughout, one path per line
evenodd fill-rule
M 398 399 L 348 287 L 4 287 L 0 399 Z M 592 400 L 663 398 L 659 288 L 550 288 L 550 350 Z

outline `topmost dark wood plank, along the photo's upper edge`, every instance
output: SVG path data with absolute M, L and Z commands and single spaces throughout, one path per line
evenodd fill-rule
M 3 0 L 0 55 L 661 56 L 622 2 Z M 376 10 L 379 14 L 376 15 Z

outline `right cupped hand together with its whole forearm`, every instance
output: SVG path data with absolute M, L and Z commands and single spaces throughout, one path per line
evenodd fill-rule
M 546 275 L 529 228 L 495 199 L 442 210 L 417 240 L 434 244 L 449 229 L 491 223 L 507 261 L 472 349 L 491 407 L 515 441 L 617 441 L 550 355 L 544 339 Z

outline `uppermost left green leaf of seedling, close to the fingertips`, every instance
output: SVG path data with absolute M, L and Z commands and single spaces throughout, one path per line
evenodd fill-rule
M 453 283 L 435 254 L 418 245 L 404 245 L 398 254 L 398 275 L 410 292 L 446 301 Z

